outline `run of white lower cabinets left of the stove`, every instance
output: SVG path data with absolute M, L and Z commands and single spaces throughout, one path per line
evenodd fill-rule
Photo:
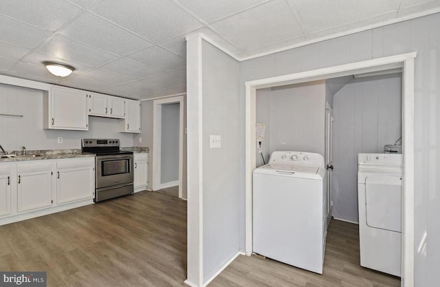
M 0 162 L 0 225 L 93 204 L 95 158 Z

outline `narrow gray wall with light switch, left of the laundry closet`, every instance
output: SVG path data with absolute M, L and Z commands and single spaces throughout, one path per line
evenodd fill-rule
M 203 281 L 239 249 L 240 153 L 243 134 L 239 105 L 240 64 L 202 41 Z M 210 135 L 221 148 L 210 149 Z

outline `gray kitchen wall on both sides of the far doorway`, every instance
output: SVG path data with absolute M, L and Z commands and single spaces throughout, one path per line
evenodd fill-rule
M 148 147 L 148 186 L 151 189 L 151 178 L 153 178 L 153 100 L 143 100 L 140 104 L 141 111 L 141 132 L 135 134 L 133 145 L 135 147 Z M 184 130 L 186 129 L 186 95 L 184 95 Z M 142 142 L 139 142 L 142 138 Z M 182 198 L 187 198 L 186 184 L 186 132 L 184 132 L 184 167 L 182 180 Z

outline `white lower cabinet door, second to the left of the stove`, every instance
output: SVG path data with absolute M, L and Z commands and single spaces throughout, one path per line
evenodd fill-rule
M 52 206 L 52 163 L 25 163 L 17 166 L 17 211 Z

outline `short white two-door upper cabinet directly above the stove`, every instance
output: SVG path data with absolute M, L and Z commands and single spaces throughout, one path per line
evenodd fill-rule
M 124 98 L 107 96 L 98 93 L 87 93 L 89 102 L 89 116 L 103 116 L 107 118 L 124 118 Z

